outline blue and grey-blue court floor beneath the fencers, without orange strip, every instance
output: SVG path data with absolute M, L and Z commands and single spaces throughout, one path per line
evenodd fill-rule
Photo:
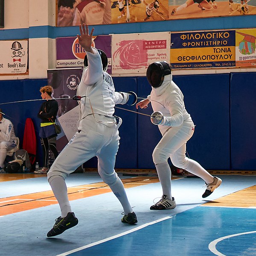
M 256 194 L 250 195 L 252 203 L 246 208 L 231 207 L 228 202 L 227 207 L 205 204 L 256 185 L 256 176 L 218 177 L 223 180 L 222 185 L 204 200 L 202 179 L 173 180 L 172 193 L 177 208 L 165 211 L 149 209 L 153 200 L 162 195 L 159 182 L 127 188 L 138 217 L 135 225 L 121 223 L 122 207 L 112 193 L 71 201 L 79 224 L 53 238 L 47 238 L 46 234 L 60 215 L 57 204 L 3 215 L 0 217 L 0 255 L 256 255 Z M 72 174 L 67 185 L 100 181 L 97 174 Z M 1 182 L 0 186 L 0 197 L 6 200 L 13 195 L 50 190 L 46 177 Z M 244 198 L 249 204 L 250 197 Z

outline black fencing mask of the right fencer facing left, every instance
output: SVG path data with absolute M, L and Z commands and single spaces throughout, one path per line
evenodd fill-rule
M 171 74 L 171 66 L 165 62 L 153 62 L 147 68 L 147 81 L 152 87 L 159 87 L 164 82 L 164 78 Z

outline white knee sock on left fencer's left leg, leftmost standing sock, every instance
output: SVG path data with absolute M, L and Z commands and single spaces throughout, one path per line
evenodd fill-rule
M 56 176 L 50 181 L 50 186 L 59 202 L 59 207 L 62 213 L 61 217 L 64 218 L 67 216 L 68 212 L 72 212 L 68 200 L 68 189 L 65 180 L 60 176 Z

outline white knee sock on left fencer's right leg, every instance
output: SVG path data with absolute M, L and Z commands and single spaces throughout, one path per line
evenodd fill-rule
M 124 208 L 124 214 L 128 215 L 128 213 L 132 212 L 132 207 L 128 201 L 127 194 L 124 190 L 124 185 L 121 179 L 119 177 L 117 178 L 117 181 L 115 182 L 114 185 L 109 186 L 115 196 L 118 198 L 120 201 L 121 205 Z

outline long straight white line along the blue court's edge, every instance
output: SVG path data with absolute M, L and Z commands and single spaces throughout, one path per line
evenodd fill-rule
M 111 236 L 111 237 L 109 237 L 109 238 L 102 239 L 102 240 L 97 241 L 97 242 L 94 242 L 94 243 L 92 243 L 92 244 L 87 244 L 87 245 L 85 245 L 85 246 L 79 247 L 79 248 L 74 249 L 74 250 L 70 250 L 70 251 L 68 251 L 68 252 L 66 252 L 66 253 L 58 254 L 58 255 L 56 255 L 56 256 L 66 256 L 66 255 L 69 255 L 69 254 L 71 254 L 71 253 L 75 253 L 75 252 L 78 252 L 78 251 L 80 251 L 80 250 L 83 250 L 83 249 L 92 247 L 92 246 L 94 246 L 94 245 L 102 244 L 102 243 L 104 243 L 104 242 L 107 242 L 107 241 L 109 241 L 109 240 L 112 240 L 112 239 L 121 237 L 121 236 L 123 236 L 123 235 L 127 235 L 127 234 L 129 234 L 129 233 L 134 232 L 134 231 L 143 229 L 144 227 L 147 227 L 147 226 L 156 224 L 156 223 L 158 223 L 158 222 L 160 222 L 160 221 L 165 221 L 165 220 L 170 219 L 170 218 L 173 218 L 173 217 L 172 217 L 172 216 L 167 216 L 167 217 L 165 217 L 165 218 L 162 218 L 162 219 L 159 219 L 159 220 L 156 220 L 156 221 L 152 221 L 152 222 L 143 224 L 143 225 L 141 225 L 141 226 L 139 226 L 139 227 L 135 227 L 134 229 L 128 230 L 128 231 L 123 232 L 123 233 L 120 233 L 120 234 L 118 234 L 118 235 L 113 235 L 113 236 Z

